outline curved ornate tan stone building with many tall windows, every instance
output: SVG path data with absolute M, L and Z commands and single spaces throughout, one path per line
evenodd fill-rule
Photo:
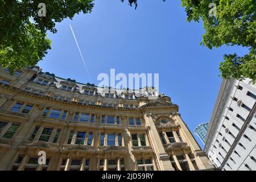
M 39 67 L 1 68 L 0 82 L 0 170 L 214 169 L 154 88 L 97 88 Z

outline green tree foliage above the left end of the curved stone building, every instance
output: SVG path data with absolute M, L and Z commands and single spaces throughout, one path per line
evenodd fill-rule
M 39 16 L 45 3 L 46 16 Z M 93 0 L 0 0 L 0 64 L 14 69 L 35 65 L 51 48 L 47 31 L 56 33 L 55 23 L 90 13 Z

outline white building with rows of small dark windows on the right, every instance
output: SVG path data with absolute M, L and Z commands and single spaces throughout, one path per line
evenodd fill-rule
M 223 80 L 208 126 L 204 151 L 222 170 L 256 170 L 256 85 Z

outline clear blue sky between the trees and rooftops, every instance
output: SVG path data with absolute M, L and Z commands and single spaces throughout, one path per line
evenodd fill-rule
M 218 65 L 222 56 L 246 53 L 240 47 L 210 50 L 200 46 L 203 24 L 186 22 L 180 1 L 139 0 L 134 10 L 127 2 L 96 0 L 91 14 L 64 19 L 56 28 L 57 34 L 48 34 L 52 49 L 38 64 L 44 72 L 94 84 L 99 73 L 109 74 L 111 68 L 127 75 L 159 73 L 160 92 L 179 105 L 191 131 L 210 119 L 221 84 Z

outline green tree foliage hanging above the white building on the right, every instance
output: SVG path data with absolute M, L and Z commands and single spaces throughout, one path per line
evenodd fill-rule
M 213 47 L 242 46 L 244 56 L 224 55 L 220 63 L 223 78 L 248 77 L 256 80 L 256 1 L 255 0 L 181 0 L 187 20 L 203 20 L 205 34 L 201 44 Z M 209 16 L 210 3 L 216 3 L 216 16 Z

